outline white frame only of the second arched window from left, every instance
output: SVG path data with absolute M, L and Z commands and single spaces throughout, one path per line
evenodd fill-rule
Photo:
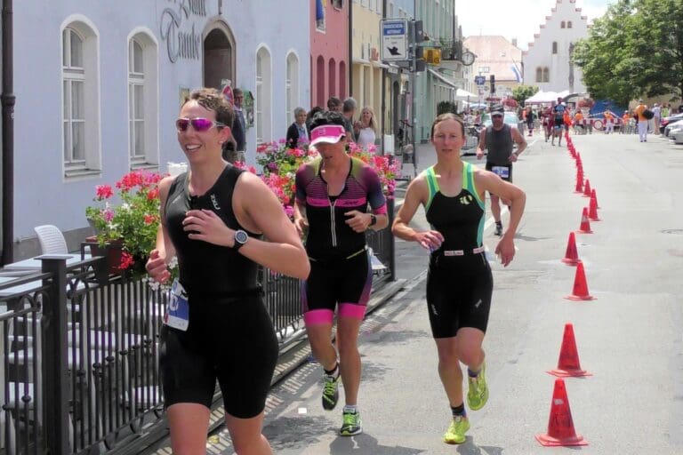
M 142 51 L 143 72 L 133 68 L 133 45 L 138 44 Z M 154 34 L 148 28 L 136 28 L 128 36 L 128 160 L 130 169 L 157 168 L 159 165 L 159 106 L 158 106 L 158 46 Z M 141 87 L 142 116 L 134 117 L 135 88 Z M 136 123 L 143 124 L 142 151 L 133 149 L 138 138 L 135 137 Z

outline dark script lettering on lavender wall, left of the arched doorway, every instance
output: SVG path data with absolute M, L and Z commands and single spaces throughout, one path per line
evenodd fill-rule
M 199 60 L 202 50 L 202 35 L 195 31 L 195 24 L 187 24 L 192 16 L 206 17 L 206 0 L 167 0 L 178 8 L 165 8 L 161 12 L 160 32 L 166 42 L 168 60 Z

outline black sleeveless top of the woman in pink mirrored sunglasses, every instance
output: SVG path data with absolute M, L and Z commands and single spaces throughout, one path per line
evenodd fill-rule
M 244 172 L 228 164 L 218 180 L 202 196 L 190 196 L 188 173 L 179 175 L 168 191 L 165 227 L 171 236 L 180 266 L 180 281 L 189 292 L 216 296 L 239 295 L 257 287 L 257 264 L 226 246 L 188 238 L 182 228 L 185 212 L 207 209 L 231 229 L 243 229 L 232 212 L 232 194 Z M 257 237 L 249 233 L 250 237 Z

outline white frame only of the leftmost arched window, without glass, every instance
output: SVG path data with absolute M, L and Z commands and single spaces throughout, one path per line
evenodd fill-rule
M 71 34 L 81 40 L 81 66 L 72 65 Z M 100 61 L 99 32 L 91 20 L 74 14 L 60 26 L 61 164 L 65 180 L 100 175 Z M 82 87 L 82 118 L 74 117 L 74 87 Z M 80 117 L 80 116 L 79 116 Z M 83 154 L 74 156 L 74 125 L 83 124 Z

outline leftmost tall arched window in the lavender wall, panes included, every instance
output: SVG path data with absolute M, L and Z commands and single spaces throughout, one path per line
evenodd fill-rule
M 62 29 L 61 43 L 64 172 L 100 172 L 97 35 L 78 20 Z

